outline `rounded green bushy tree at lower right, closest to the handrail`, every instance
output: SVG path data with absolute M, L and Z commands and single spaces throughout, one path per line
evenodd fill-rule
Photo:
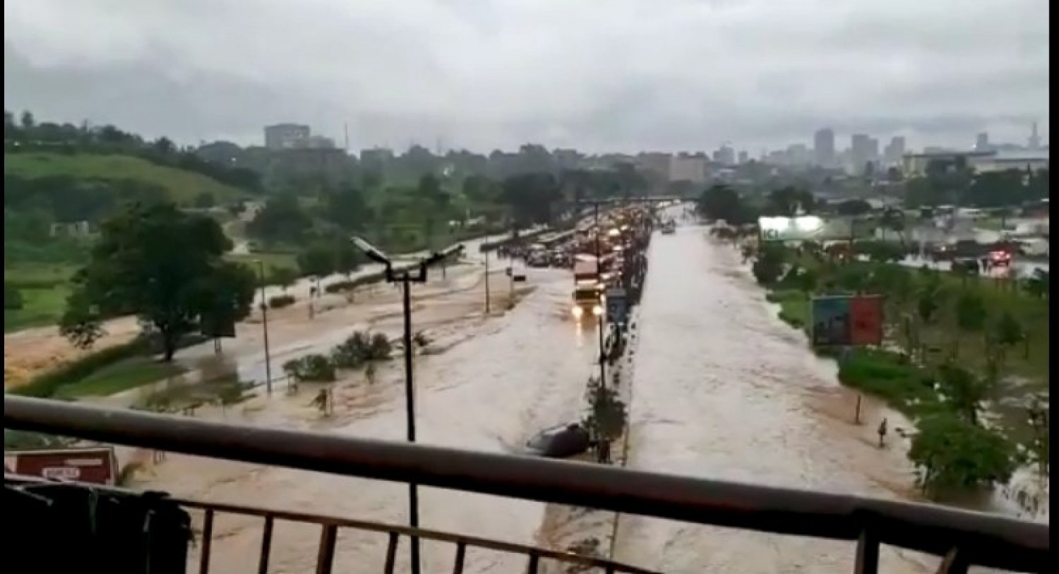
M 932 497 L 1004 484 L 1019 467 L 1018 449 L 1011 442 L 959 416 L 936 413 L 922 418 L 918 428 L 909 459 L 916 466 L 920 487 Z

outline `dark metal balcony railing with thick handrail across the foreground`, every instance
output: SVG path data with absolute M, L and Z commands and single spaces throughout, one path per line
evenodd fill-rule
M 946 573 L 966 572 L 970 566 L 1044 572 L 1051 554 L 1049 527 L 1045 524 L 923 504 L 676 477 L 605 465 L 230 425 L 8 395 L 4 396 L 4 427 L 688 523 L 856 541 L 857 558 L 852 566 L 855 572 L 865 574 L 878 571 L 880 544 L 941 557 L 939 572 Z M 607 572 L 643 572 L 569 553 L 426 530 L 225 504 L 181 503 L 205 513 L 201 572 L 209 569 L 212 523 L 217 513 L 263 518 L 262 560 L 266 566 L 272 523 L 292 520 L 321 524 L 318 572 L 330 571 L 336 535 L 341 527 L 388 533 L 388 572 L 392 571 L 397 540 L 402 536 L 455 544 L 456 572 L 461 571 L 467 546 L 524 554 L 530 572 L 537 571 L 542 558 L 597 567 Z

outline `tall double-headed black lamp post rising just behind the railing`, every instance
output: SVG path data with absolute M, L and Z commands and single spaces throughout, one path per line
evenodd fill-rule
M 425 259 L 407 267 L 395 269 L 393 261 L 372 244 L 360 237 L 354 237 L 353 243 L 367 258 L 385 268 L 387 283 L 399 283 L 402 287 L 402 312 L 405 316 L 405 410 L 408 423 L 408 442 L 415 442 L 415 384 L 412 375 L 412 284 L 427 282 L 427 268 L 445 262 L 452 255 L 463 251 L 457 245 L 443 252 L 434 252 Z M 416 484 L 408 484 L 409 525 L 419 527 L 419 495 Z M 412 574 L 419 574 L 419 538 L 412 536 Z

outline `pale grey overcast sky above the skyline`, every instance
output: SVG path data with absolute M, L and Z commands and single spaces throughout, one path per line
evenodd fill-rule
M 1048 0 L 7 0 L 4 107 L 184 143 L 1025 143 L 1047 43 Z

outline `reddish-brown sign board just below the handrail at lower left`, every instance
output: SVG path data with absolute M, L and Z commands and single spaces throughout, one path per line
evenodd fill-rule
M 48 450 L 8 450 L 16 474 L 113 486 L 118 481 L 118 459 L 113 447 Z

